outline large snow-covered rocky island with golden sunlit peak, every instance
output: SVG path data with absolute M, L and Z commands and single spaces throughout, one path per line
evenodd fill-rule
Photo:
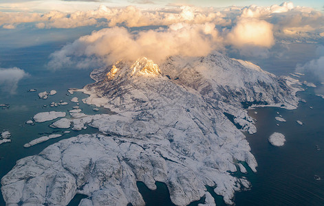
M 1 180 L 8 205 L 67 205 L 77 193 L 89 196 L 80 205 L 144 205 L 136 181 L 151 190 L 155 181 L 166 183 L 175 205 L 202 196 L 213 205 L 206 185 L 233 204 L 235 191 L 250 183 L 231 172 L 257 167 L 241 133 L 256 132 L 244 105 L 296 108 L 298 102 L 285 79 L 218 52 L 175 56 L 162 65 L 120 61 L 91 78 L 96 82 L 81 90 L 90 95 L 83 101 L 116 114 L 71 119 L 100 133 L 64 139 L 17 161 Z

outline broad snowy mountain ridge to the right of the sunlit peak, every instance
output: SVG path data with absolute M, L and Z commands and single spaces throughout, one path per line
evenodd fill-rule
M 257 65 L 230 59 L 219 52 L 201 58 L 171 57 L 161 70 L 179 84 L 204 97 L 239 107 L 241 102 L 267 102 L 296 108 L 296 97 L 286 80 L 263 71 Z

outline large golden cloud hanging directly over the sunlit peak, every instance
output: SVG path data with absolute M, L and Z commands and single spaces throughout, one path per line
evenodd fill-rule
M 125 27 L 112 27 L 83 36 L 51 55 L 49 66 L 58 69 L 76 65 L 89 68 L 103 62 L 136 60 L 146 56 L 160 62 L 168 56 L 205 56 L 221 46 L 222 37 L 211 23 L 179 23 L 168 29 L 131 33 Z

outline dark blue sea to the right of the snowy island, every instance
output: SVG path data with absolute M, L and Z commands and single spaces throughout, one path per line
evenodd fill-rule
M 257 119 L 258 131 L 247 135 L 247 139 L 259 166 L 257 173 L 247 175 L 252 190 L 237 193 L 236 205 L 324 205 L 324 181 L 314 179 L 314 175 L 324 177 L 324 100 L 312 92 L 307 89 L 299 93 L 307 102 L 293 111 L 249 111 Z M 277 111 L 287 122 L 274 120 Z M 303 126 L 296 120 L 303 122 Z M 285 135 L 284 146 L 268 143 L 274 132 Z M 316 146 L 321 150 L 316 150 Z

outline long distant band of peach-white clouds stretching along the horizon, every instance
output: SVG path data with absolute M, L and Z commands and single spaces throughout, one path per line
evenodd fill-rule
M 224 10 L 197 8 L 188 5 L 159 9 L 140 9 L 134 6 L 109 8 L 106 5 L 100 5 L 95 10 L 89 8 L 86 11 L 76 12 L 52 11 L 44 14 L 0 12 L 0 25 L 7 29 L 14 29 L 21 23 L 34 23 L 36 27 L 47 29 L 87 25 L 142 27 L 148 25 L 169 26 L 175 23 L 214 23 L 218 27 L 230 29 L 235 25 L 240 27 L 240 23 L 248 26 L 244 23 L 244 19 L 260 21 L 257 25 L 261 25 L 264 21 L 271 23 L 274 25 L 274 35 L 277 36 L 289 37 L 305 32 L 323 36 L 324 32 L 323 12 L 318 12 L 312 8 L 294 6 L 291 2 L 268 7 L 250 5 L 244 8 L 232 7 Z M 266 24 L 262 23 L 262 26 L 265 28 Z

